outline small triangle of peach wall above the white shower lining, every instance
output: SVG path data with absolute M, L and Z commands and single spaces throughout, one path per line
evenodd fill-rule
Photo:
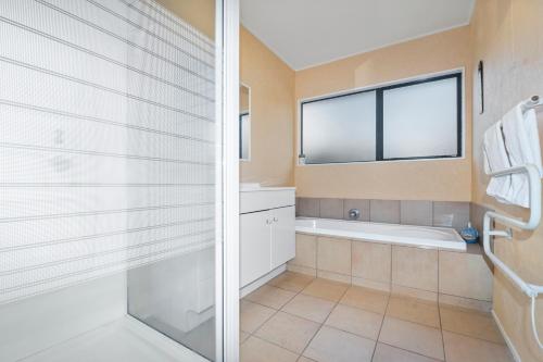
M 215 0 L 156 0 L 164 8 L 215 39 Z

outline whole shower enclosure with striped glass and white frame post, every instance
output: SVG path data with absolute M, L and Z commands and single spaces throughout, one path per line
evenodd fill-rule
M 0 361 L 237 353 L 236 7 L 0 2 Z

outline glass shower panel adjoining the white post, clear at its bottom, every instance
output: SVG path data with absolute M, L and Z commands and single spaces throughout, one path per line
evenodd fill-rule
M 172 3 L 180 16 L 184 2 Z M 128 272 L 128 313 L 210 360 L 215 359 L 215 46 L 213 39 L 154 2 L 130 5 L 127 117 L 167 134 L 128 137 L 128 202 L 148 210 L 127 220 L 128 248 L 153 257 Z M 214 18 L 214 13 L 199 13 Z M 146 73 L 153 74 L 153 77 Z M 146 100 L 146 101 L 141 101 Z

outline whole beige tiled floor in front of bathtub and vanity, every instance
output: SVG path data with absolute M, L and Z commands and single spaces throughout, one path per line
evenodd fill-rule
M 241 301 L 242 362 L 513 361 L 489 314 L 286 272 Z

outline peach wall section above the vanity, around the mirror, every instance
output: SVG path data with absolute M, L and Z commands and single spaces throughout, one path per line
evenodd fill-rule
M 294 71 L 244 27 L 240 52 L 241 82 L 251 88 L 251 161 L 240 163 L 240 179 L 292 186 Z

